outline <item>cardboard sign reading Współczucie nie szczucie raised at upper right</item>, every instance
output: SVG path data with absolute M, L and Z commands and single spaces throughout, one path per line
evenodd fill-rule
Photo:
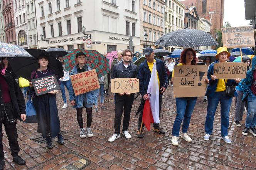
M 222 43 L 227 48 L 255 46 L 253 26 L 221 28 Z

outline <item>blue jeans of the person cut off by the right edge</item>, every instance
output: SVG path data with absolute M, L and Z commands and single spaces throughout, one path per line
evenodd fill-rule
M 248 103 L 248 113 L 246 116 L 245 127 L 254 128 L 256 127 L 256 96 L 248 95 L 247 96 Z

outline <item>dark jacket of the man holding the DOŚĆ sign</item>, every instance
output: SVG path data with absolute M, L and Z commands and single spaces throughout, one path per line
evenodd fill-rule
M 115 64 L 111 71 L 111 79 L 116 78 L 138 78 L 138 67 L 131 63 L 127 68 L 125 68 L 123 62 Z

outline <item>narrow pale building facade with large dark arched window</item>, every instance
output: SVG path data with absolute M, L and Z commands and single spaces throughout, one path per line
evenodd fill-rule
M 13 12 L 17 45 L 29 48 L 25 0 L 13 0 Z

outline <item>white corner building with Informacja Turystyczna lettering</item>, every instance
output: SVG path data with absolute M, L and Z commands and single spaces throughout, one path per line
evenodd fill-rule
M 127 49 L 132 37 L 132 50 L 140 49 L 139 0 L 35 0 L 35 12 L 39 48 L 104 54 Z

